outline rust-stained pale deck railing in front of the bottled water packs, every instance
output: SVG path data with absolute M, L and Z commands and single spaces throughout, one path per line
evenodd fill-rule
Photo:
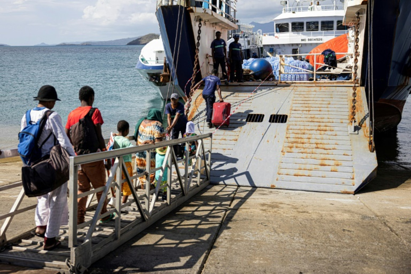
M 335 55 L 344 55 L 346 57 L 348 56 L 353 56 L 354 53 L 335 53 Z M 286 64 L 285 63 L 285 59 L 287 57 L 292 57 L 292 58 L 298 58 L 298 57 L 302 57 L 302 56 L 314 56 L 314 66 L 313 69 L 304 69 L 301 67 L 296 67 L 293 66 L 291 64 Z M 341 67 L 332 67 L 328 64 L 324 64 L 321 63 L 319 61 L 317 61 L 319 56 L 323 56 L 321 53 L 301 53 L 301 54 L 282 54 L 282 55 L 278 55 L 279 58 L 279 66 L 278 66 L 278 82 L 317 82 L 317 81 L 323 81 L 324 79 L 317 79 L 317 75 L 338 75 L 338 74 L 351 74 L 351 79 L 349 80 L 340 80 L 340 81 L 345 81 L 345 82 L 353 82 L 355 79 L 353 77 L 354 71 L 353 71 L 353 67 L 347 62 L 347 63 L 342 63 L 342 64 L 346 64 L 347 67 L 345 68 L 341 68 Z M 321 66 L 321 67 L 331 67 L 332 69 L 337 69 L 337 71 L 319 71 L 317 69 L 317 66 Z M 293 69 L 296 69 L 298 71 L 291 71 L 291 72 L 286 72 L 285 67 L 291 67 Z M 313 74 L 314 77 L 312 79 L 312 81 L 293 81 L 293 80 L 281 80 L 281 75 L 282 74 Z

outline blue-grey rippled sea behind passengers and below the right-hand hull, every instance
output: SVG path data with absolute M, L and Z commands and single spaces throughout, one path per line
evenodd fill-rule
M 79 106 L 79 89 L 90 85 L 94 106 L 102 112 L 104 137 L 116 131 L 119 120 L 130 132 L 150 108 L 163 101 L 134 69 L 142 46 L 0 47 L 0 149 L 16 147 L 21 117 L 36 105 L 33 97 L 42 85 L 53 85 L 58 97 L 54 111 L 63 122 Z M 411 163 L 411 101 L 408 100 L 396 134 L 376 139 L 380 161 Z

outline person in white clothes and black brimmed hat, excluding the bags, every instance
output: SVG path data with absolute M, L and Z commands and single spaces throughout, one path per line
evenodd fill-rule
M 60 101 L 57 98 L 55 88 L 51 85 L 42 86 L 34 100 L 39 101 L 39 104 L 30 111 L 31 122 L 42 119 L 44 113 L 54 107 L 55 101 Z M 21 130 L 30 121 L 26 121 L 26 115 L 24 115 L 21 119 Z M 41 147 L 42 157 L 50 154 L 55 141 L 58 141 L 70 156 L 75 155 L 70 140 L 64 132 L 61 117 L 57 112 L 50 114 L 40 134 L 38 145 L 44 143 Z M 68 223 L 67 182 L 46 195 L 37 197 L 35 222 L 37 226 L 35 234 L 44 237 L 44 250 L 52 250 L 60 245 L 60 241 L 55 237 L 59 234 L 60 225 L 65 226 Z

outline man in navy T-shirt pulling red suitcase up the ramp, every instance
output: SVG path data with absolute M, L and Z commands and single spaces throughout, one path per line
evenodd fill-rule
M 203 98 L 205 100 L 205 116 L 207 117 L 208 127 L 212 128 L 211 116 L 212 116 L 212 106 L 215 103 L 215 90 L 217 90 L 220 102 L 224 102 L 221 96 L 220 78 L 217 77 L 217 69 L 211 71 L 212 75 L 203 78 L 199 83 L 197 83 L 192 91 L 196 90 L 202 83 L 204 83 Z

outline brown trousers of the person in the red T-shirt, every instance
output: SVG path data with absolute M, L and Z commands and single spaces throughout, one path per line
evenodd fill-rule
M 91 185 L 93 188 L 97 189 L 99 187 L 104 187 L 106 184 L 106 169 L 104 168 L 104 161 L 97 161 L 93 163 L 85 163 L 81 165 L 81 170 L 78 171 L 78 194 L 90 191 Z M 97 192 L 97 200 L 99 201 L 102 196 L 103 191 Z M 78 211 L 77 211 L 77 223 L 84 223 L 84 215 L 87 204 L 87 196 L 79 198 L 77 200 Z M 104 201 L 104 205 L 101 214 L 107 212 L 107 198 Z

